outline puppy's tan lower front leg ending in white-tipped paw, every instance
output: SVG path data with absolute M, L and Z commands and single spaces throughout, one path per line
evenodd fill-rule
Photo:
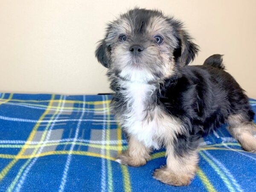
M 149 153 L 150 149 L 131 136 L 128 141 L 128 149 L 116 157 L 116 162 L 133 167 L 143 166 L 150 159 Z

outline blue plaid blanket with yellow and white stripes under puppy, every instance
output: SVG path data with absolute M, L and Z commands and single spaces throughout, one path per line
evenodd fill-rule
M 110 102 L 109 95 L 0 94 L 0 191 L 256 191 L 256 154 L 243 151 L 225 125 L 201 140 L 189 186 L 153 179 L 166 163 L 164 149 L 139 168 L 116 163 L 127 143 Z

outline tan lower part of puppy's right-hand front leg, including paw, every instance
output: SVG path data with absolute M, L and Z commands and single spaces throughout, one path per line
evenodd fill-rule
M 197 151 L 177 154 L 174 146 L 170 144 L 166 147 L 166 155 L 166 166 L 156 169 L 153 177 L 169 185 L 189 185 L 198 169 Z

